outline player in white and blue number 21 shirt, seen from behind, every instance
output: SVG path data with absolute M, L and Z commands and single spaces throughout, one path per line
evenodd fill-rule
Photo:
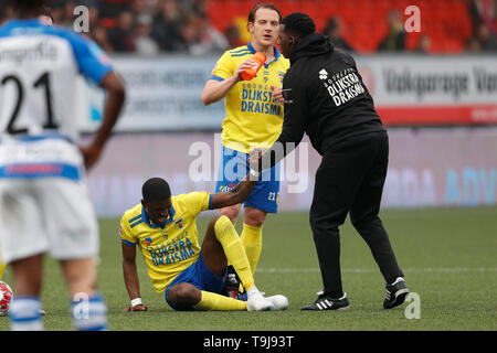
M 15 297 L 12 330 L 42 330 L 43 254 L 56 258 L 74 299 L 77 330 L 107 328 L 106 304 L 96 291 L 98 226 L 85 167 L 98 160 L 124 104 L 125 88 L 94 43 L 39 19 L 43 0 L 11 1 L 14 20 L 0 28 L 0 234 Z M 107 90 L 104 120 L 84 148 L 74 142 L 76 78 Z M 78 301 L 73 301 L 72 309 Z

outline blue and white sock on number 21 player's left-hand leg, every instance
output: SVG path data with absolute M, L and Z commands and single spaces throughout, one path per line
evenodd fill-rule
M 43 331 L 42 308 L 38 297 L 13 297 L 9 318 L 12 331 Z

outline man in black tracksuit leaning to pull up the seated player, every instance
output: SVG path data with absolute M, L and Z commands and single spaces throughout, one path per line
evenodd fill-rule
M 258 159 L 258 164 L 253 158 L 252 165 L 255 175 L 261 168 L 273 165 L 300 142 L 304 132 L 322 156 L 316 172 L 309 221 L 324 291 L 303 310 L 349 308 L 341 286 L 338 229 L 348 213 L 387 281 L 383 307 L 396 307 L 404 301 L 409 289 L 378 216 L 389 141 L 373 100 L 353 58 L 334 49 L 328 38 L 315 33 L 314 21 L 307 14 L 292 13 L 283 20 L 279 45 L 283 55 L 290 60 L 283 81 L 282 133 Z

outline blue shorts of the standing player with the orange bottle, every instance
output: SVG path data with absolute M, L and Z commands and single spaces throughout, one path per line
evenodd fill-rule
M 248 154 L 222 147 L 221 163 L 218 170 L 215 192 L 225 192 L 233 189 L 240 180 L 248 174 Z M 279 164 L 262 172 L 244 205 L 267 213 L 278 211 L 279 199 Z

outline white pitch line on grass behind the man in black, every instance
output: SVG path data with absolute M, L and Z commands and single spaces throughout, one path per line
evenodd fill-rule
M 257 268 L 257 272 L 265 274 L 307 274 L 319 272 L 319 268 Z M 378 272 L 377 268 L 342 268 L 342 272 L 371 274 Z M 497 267 L 425 267 L 425 268 L 405 268 L 404 272 L 497 272 Z

